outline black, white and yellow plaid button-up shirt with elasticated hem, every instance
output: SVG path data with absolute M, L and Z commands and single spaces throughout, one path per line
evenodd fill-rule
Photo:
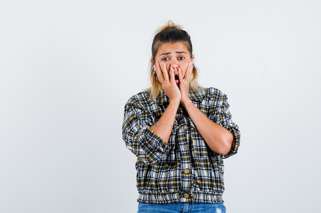
M 223 203 L 223 158 L 234 155 L 239 146 L 238 126 L 231 121 L 227 96 L 215 88 L 190 99 L 210 120 L 228 129 L 234 137 L 227 155 L 212 151 L 180 105 L 168 144 L 150 130 L 169 104 L 163 94 L 156 102 L 146 91 L 132 96 L 125 105 L 123 139 L 137 156 L 138 202 Z

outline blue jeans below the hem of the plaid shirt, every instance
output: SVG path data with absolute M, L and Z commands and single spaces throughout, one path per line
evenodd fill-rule
M 138 203 L 137 213 L 225 213 L 223 203 L 170 203 L 148 204 Z

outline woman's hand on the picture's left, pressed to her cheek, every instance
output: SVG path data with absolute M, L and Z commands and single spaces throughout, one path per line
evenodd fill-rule
M 170 66 L 169 72 L 166 68 L 164 62 L 160 64 L 156 62 L 154 64 L 154 70 L 157 75 L 157 79 L 165 91 L 166 96 L 169 98 L 169 101 L 180 102 L 181 94 L 180 90 L 175 82 L 174 69 Z

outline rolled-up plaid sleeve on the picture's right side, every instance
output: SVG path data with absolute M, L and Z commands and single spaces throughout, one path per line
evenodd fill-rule
M 216 90 L 210 99 L 209 119 L 222 127 L 225 127 L 233 135 L 231 150 L 226 155 L 218 155 L 221 158 L 227 158 L 237 153 L 240 141 L 240 132 L 238 126 L 232 122 L 232 115 L 229 111 L 230 105 L 227 102 L 227 96 L 219 90 Z

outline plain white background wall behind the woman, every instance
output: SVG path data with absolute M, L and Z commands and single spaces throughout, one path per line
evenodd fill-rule
M 227 212 L 320 212 L 321 2 L 0 3 L 0 212 L 136 212 L 124 105 L 184 26 L 241 130 Z

